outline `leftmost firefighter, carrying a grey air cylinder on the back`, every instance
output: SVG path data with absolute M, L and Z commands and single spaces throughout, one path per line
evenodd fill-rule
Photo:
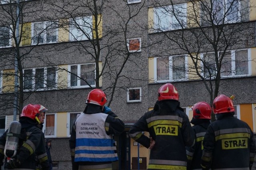
M 20 116 L 21 132 L 17 154 L 13 160 L 5 163 L 5 169 L 35 170 L 40 159 L 42 170 L 49 170 L 49 162 L 44 146 L 44 134 L 37 127 L 39 110 L 33 104 L 22 109 Z M 0 137 L 0 162 L 3 160 L 3 150 L 6 143 L 6 132 Z M 35 153 L 38 153 L 37 156 Z

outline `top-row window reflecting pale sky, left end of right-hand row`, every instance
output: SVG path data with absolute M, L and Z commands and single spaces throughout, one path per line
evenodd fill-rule
M 154 30 L 168 31 L 186 27 L 186 4 L 154 8 Z

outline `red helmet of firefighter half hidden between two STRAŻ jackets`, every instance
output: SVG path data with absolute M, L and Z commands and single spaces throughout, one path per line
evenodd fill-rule
M 198 102 L 191 107 L 193 110 L 193 118 L 195 119 L 211 119 L 212 108 L 206 102 Z

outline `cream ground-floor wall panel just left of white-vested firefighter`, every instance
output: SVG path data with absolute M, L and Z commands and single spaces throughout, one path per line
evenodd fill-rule
M 67 112 L 57 113 L 57 137 L 67 137 Z

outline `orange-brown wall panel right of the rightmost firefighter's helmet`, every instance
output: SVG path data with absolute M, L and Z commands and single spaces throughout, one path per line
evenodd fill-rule
M 240 119 L 253 129 L 252 104 L 240 104 Z

